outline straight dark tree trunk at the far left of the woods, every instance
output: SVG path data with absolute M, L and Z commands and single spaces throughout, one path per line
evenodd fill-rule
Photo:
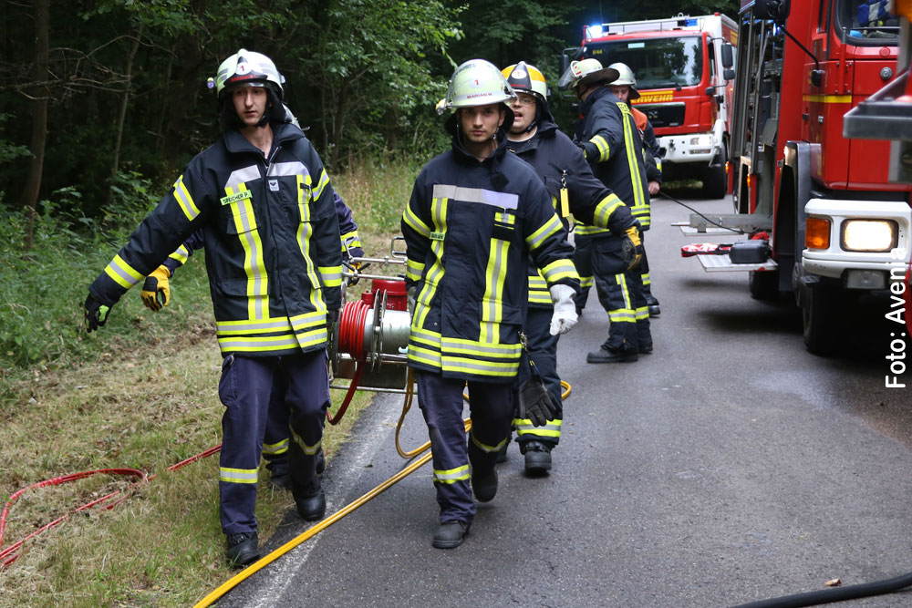
M 48 46 L 50 29 L 50 0 L 35 0 L 35 79 L 47 82 Z M 45 164 L 45 146 L 47 145 L 47 99 L 50 92 L 47 87 L 33 91 L 32 102 L 32 160 L 28 165 L 26 185 L 22 191 L 22 203 L 28 209 L 26 228 L 26 249 L 32 248 L 35 235 L 35 214 L 38 206 L 38 192 L 41 189 L 41 174 Z

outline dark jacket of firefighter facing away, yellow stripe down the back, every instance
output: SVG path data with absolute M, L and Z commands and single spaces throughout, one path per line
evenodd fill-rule
M 627 203 L 643 230 L 649 226 L 649 191 L 643 168 L 643 146 L 627 104 L 607 87 L 596 88 L 580 106 L 574 123 L 586 160 L 602 180 Z

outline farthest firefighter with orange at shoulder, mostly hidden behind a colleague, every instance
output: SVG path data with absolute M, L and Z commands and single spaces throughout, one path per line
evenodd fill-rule
M 643 140 L 643 160 L 645 162 L 649 196 L 655 196 L 662 185 L 661 150 L 658 147 L 658 139 L 656 139 L 656 131 L 652 128 L 652 123 L 649 122 L 644 112 L 634 108 L 631 104 L 634 99 L 639 98 L 639 91 L 636 88 L 637 78 L 634 77 L 633 70 L 627 64 L 613 63 L 608 67 L 617 69 L 619 74 L 617 79 L 609 85 L 611 92 L 615 94 L 616 98 L 627 104 L 627 107 L 630 108 L 630 113 L 633 114 L 633 118 L 637 122 L 637 130 Z M 652 214 L 651 202 L 646 209 L 638 210 L 637 213 L 637 220 L 643 227 L 643 231 L 648 231 Z M 639 270 L 640 276 L 643 278 L 643 295 L 646 297 L 649 316 L 658 316 L 661 313 L 661 309 L 656 296 L 652 294 L 652 278 L 649 276 L 649 261 L 645 249 L 643 250 L 643 260 L 640 262 Z

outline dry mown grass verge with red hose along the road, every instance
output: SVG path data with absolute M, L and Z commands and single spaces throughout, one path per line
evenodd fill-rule
M 389 252 L 416 174 L 404 163 L 376 162 L 334 179 L 368 255 Z M 117 236 L 128 232 L 124 228 Z M 221 356 L 202 256 L 181 269 L 166 309 L 151 314 L 133 290 L 115 307 L 109 325 L 86 335 L 78 331 L 79 304 L 117 245 L 94 242 L 98 253 L 86 253 L 92 243 L 78 235 L 47 233 L 48 246 L 28 257 L 15 247 L 2 251 L 7 269 L 30 278 L 16 282 L 11 273 L 0 273 L 6 282 L 0 305 L 31 313 L 0 320 L 0 499 L 82 470 L 133 468 L 157 476 L 112 510 L 71 514 L 28 542 L 0 572 L 0 607 L 195 603 L 234 572 L 223 560 L 218 457 L 167 471 L 221 441 Z M 79 248 L 66 244 L 73 239 Z M 75 270 L 61 275 L 61 268 Z M 357 290 L 349 299 L 355 295 Z M 52 312 L 41 314 L 47 310 Z M 16 336 L 27 346 L 20 348 Z M 334 390 L 334 405 L 343 396 Z M 371 397 L 358 393 L 341 424 L 327 426 L 327 458 Z M 272 489 L 266 476 L 261 470 L 261 542 L 294 509 L 290 493 Z M 28 491 L 10 510 L 0 551 L 79 505 L 126 488 L 124 478 L 98 475 Z

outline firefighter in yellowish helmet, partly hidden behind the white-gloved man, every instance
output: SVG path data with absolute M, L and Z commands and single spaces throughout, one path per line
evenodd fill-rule
M 629 239 L 627 251 L 634 254 L 639 235 L 637 221 L 623 201 L 596 180 L 573 141 L 557 129 L 548 105 L 548 87 L 544 74 L 532 65 L 520 61 L 505 67 L 503 76 L 516 91 L 508 101 L 513 108 L 513 125 L 507 133 L 507 149 L 534 168 L 551 196 L 557 215 L 569 228 L 569 215 L 580 221 L 604 228 L 618 238 Z M 556 403 L 561 403 L 561 379 L 557 374 L 557 339 L 548 331 L 554 306 L 548 294 L 544 276 L 534 265 L 529 267 L 529 309 L 523 324 L 528 337 L 529 355 L 544 378 Z M 520 382 L 528 376 L 521 368 Z M 560 442 L 563 407 L 544 427 L 535 427 L 528 418 L 513 420 L 516 442 L 525 458 L 525 472 L 540 475 L 552 467 L 552 450 Z

